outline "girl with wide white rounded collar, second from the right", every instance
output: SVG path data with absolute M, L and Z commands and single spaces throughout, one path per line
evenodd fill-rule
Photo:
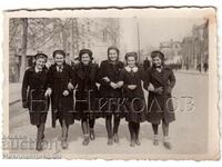
M 145 120 L 145 100 L 142 90 L 142 70 L 137 66 L 137 52 L 125 55 L 127 67 L 122 70 L 125 120 L 129 122 L 130 146 L 140 146 L 140 122 Z

